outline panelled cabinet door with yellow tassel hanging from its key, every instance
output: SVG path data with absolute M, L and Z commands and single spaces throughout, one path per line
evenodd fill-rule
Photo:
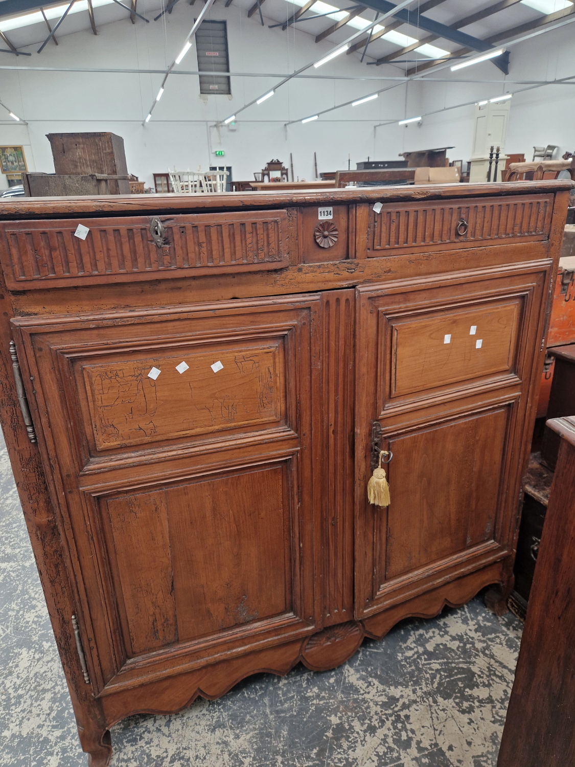
M 356 617 L 506 555 L 547 268 L 357 288 Z M 367 502 L 378 448 L 386 509 Z

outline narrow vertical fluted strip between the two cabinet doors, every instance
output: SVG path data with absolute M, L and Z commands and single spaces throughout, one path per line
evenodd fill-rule
M 352 290 L 323 295 L 324 624 L 353 616 L 353 357 Z

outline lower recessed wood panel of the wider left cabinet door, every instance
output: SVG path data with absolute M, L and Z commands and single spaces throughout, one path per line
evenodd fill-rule
M 293 615 L 288 463 L 100 499 L 128 657 Z

